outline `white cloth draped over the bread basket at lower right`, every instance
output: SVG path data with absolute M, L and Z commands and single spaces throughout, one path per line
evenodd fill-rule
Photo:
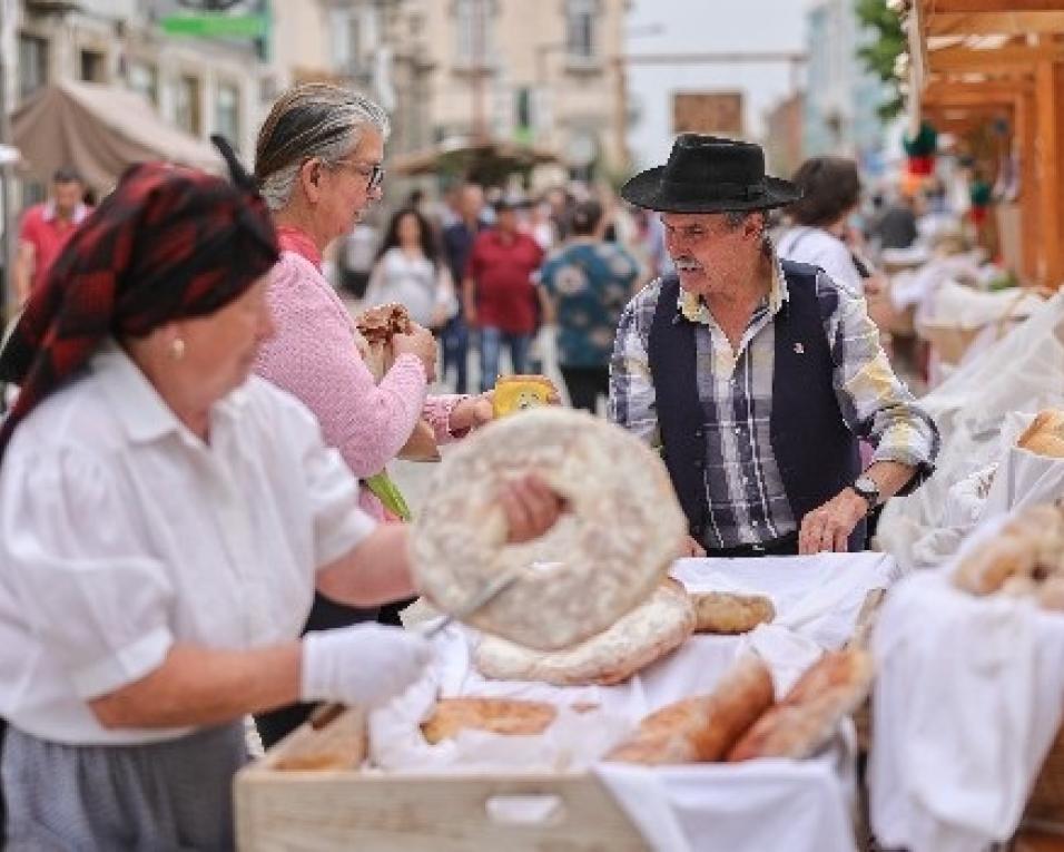
M 1006 841 L 1061 724 L 1064 616 L 922 571 L 891 590 L 874 648 L 879 842 L 971 852 Z

